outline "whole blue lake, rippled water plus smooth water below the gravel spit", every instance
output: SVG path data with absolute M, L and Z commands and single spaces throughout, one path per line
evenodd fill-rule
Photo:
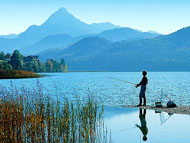
M 1 80 L 0 86 L 11 88 L 12 83 L 18 88 L 24 85 L 33 89 L 39 81 L 44 92 L 54 100 L 64 101 L 64 97 L 75 100 L 75 96 L 86 100 L 89 95 L 93 96 L 105 105 L 105 126 L 115 143 L 143 142 L 143 134 L 147 134 L 147 142 L 150 143 L 190 142 L 190 128 L 187 125 L 190 122 L 189 115 L 155 113 L 154 110 L 141 112 L 138 108 L 121 107 L 138 104 L 140 88 L 121 80 L 139 83 L 142 78 L 140 72 L 69 72 L 46 75 L 38 80 Z M 148 79 L 148 105 L 160 101 L 161 91 L 169 95 L 177 105 L 190 105 L 190 72 L 149 72 Z M 167 101 L 164 98 L 164 103 Z

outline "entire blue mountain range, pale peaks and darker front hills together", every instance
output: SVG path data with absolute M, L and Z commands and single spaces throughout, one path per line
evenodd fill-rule
M 0 36 L 0 49 L 64 58 L 70 70 L 190 71 L 190 27 L 161 35 L 109 22 L 86 24 L 61 8 L 14 36 Z

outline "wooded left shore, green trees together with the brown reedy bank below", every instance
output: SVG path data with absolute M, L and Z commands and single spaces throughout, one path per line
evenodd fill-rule
M 39 56 L 23 56 L 18 50 L 15 50 L 12 55 L 0 52 L 0 79 L 37 78 L 41 77 L 37 73 L 67 71 L 68 67 L 64 59 L 60 62 L 48 59 L 42 63 Z

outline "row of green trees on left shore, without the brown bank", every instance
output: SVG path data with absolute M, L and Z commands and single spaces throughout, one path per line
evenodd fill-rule
M 64 59 L 60 62 L 48 59 L 45 63 L 39 61 L 39 56 L 23 56 L 18 50 L 12 54 L 0 52 L 0 69 L 24 70 L 32 72 L 67 72 Z

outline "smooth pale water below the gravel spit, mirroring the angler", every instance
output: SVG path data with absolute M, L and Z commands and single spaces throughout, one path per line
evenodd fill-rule
M 146 110 L 146 114 L 142 110 L 141 114 L 137 108 L 105 108 L 105 125 L 114 143 L 144 142 L 143 133 L 147 143 L 189 143 L 189 122 L 189 115 L 168 115 L 153 110 Z

